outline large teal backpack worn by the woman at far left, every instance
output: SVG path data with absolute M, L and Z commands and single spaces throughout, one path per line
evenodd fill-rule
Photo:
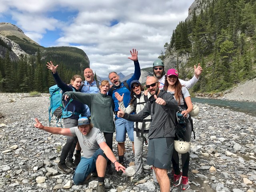
M 72 89 L 73 91 L 76 91 L 74 88 Z M 73 114 L 80 115 L 80 113 L 78 112 L 67 111 L 67 107 L 70 104 L 70 102 L 73 101 L 73 99 L 70 99 L 68 104 L 65 106 L 63 91 L 57 85 L 51 86 L 49 88 L 49 92 L 50 92 L 50 98 L 49 98 L 50 101 L 49 101 L 48 113 L 49 113 L 50 126 L 51 126 L 51 119 L 53 116 L 55 116 L 55 119 L 56 119 L 56 126 L 58 127 L 58 122 L 60 121 L 60 125 L 62 127 L 62 124 L 61 124 L 62 118 L 68 118 Z

